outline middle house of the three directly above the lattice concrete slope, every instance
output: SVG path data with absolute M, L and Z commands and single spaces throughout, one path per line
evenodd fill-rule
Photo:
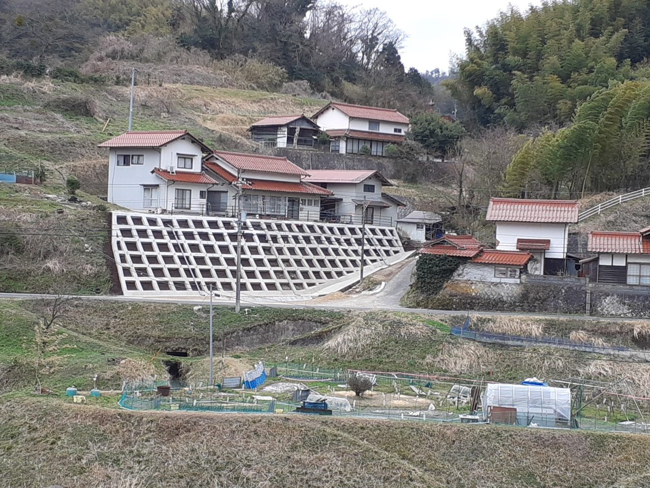
M 210 213 L 236 215 L 238 182 L 241 210 L 259 217 L 318 221 L 320 198 L 331 195 L 307 182 L 309 174 L 286 157 L 214 151 L 203 166 L 222 183 L 207 193 Z

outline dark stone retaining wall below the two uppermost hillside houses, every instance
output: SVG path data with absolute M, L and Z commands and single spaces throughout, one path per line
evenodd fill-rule
M 315 150 L 302 150 L 292 148 L 269 148 L 265 150 L 272 156 L 286 157 L 296 165 L 306 170 L 310 169 L 373 169 L 378 170 L 386 178 L 401 179 L 404 175 L 404 166 L 409 163 L 382 156 L 363 156 L 361 154 L 338 154 Z M 413 163 L 410 163 L 411 165 Z M 424 165 L 423 178 L 436 182 L 452 175 L 453 168 L 450 162 L 427 161 Z

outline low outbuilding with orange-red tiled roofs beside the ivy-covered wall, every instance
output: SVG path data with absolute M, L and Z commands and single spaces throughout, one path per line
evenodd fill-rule
M 419 254 L 452 256 L 463 260 L 450 279 L 519 283 L 532 259 L 530 252 L 486 249 L 472 236 L 446 235 L 419 249 Z

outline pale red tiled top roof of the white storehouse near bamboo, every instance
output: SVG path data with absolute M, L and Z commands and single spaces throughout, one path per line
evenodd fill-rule
M 576 200 L 491 198 L 486 220 L 571 224 L 578 221 L 579 210 L 580 204 Z

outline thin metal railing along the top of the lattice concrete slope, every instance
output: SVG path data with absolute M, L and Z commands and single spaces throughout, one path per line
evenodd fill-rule
M 236 206 L 213 206 L 209 203 L 201 205 L 177 206 L 172 204 L 171 210 L 161 210 L 162 213 L 183 213 L 190 215 L 211 215 L 214 217 L 239 217 L 239 211 Z M 362 225 L 363 216 L 356 213 L 335 213 L 331 211 L 317 210 L 300 210 L 294 208 L 283 208 L 279 211 L 261 210 L 260 208 L 246 208 L 242 206 L 241 211 L 246 212 L 248 219 L 271 219 L 283 221 L 307 221 L 307 222 L 324 222 L 335 224 L 354 224 Z M 393 227 L 395 220 L 393 217 L 380 217 L 375 215 L 372 219 L 366 218 L 367 225 L 378 225 Z

